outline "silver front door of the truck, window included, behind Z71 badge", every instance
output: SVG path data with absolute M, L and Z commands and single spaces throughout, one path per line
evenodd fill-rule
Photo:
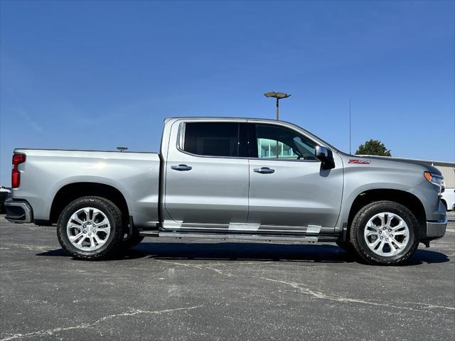
M 323 170 L 316 143 L 279 124 L 248 123 L 250 209 L 259 229 L 333 231 L 341 209 L 343 166 Z M 314 230 L 314 231 L 316 231 Z

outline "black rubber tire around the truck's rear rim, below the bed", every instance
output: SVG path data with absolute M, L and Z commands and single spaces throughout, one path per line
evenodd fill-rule
M 66 226 L 71 215 L 83 207 L 94 207 L 102 211 L 110 223 L 110 234 L 109 237 L 107 237 L 107 241 L 100 249 L 94 251 L 77 249 L 77 247 L 70 242 L 66 232 Z M 122 239 L 124 237 L 123 232 L 122 212 L 120 212 L 119 207 L 104 197 L 80 197 L 73 202 L 70 202 L 70 204 L 61 212 L 57 222 L 58 241 L 63 250 L 75 259 L 99 260 L 107 258 L 121 247 Z

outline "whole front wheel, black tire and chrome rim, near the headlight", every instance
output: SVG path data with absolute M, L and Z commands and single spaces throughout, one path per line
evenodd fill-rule
M 370 264 L 405 263 L 417 250 L 419 239 L 416 217 L 392 201 L 366 205 L 355 215 L 350 228 L 355 252 Z

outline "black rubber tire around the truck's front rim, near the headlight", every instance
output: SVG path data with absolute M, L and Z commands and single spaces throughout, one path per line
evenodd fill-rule
M 382 212 L 390 212 L 399 215 L 402 220 L 405 220 L 410 231 L 409 242 L 406 247 L 395 256 L 380 256 L 375 254 L 365 242 L 363 235 L 368 220 Z M 361 208 L 353 219 L 350 227 L 350 242 L 355 249 L 355 253 L 360 256 L 363 261 L 369 264 L 380 265 L 398 265 L 404 264 L 410 259 L 412 254 L 417 250 L 420 240 L 419 222 L 416 217 L 405 206 L 392 201 L 372 202 Z

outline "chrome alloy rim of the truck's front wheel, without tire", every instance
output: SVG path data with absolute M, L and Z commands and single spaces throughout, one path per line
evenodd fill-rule
M 410 240 L 410 229 L 399 215 L 382 212 L 368 220 L 363 232 L 371 251 L 380 256 L 400 254 Z

